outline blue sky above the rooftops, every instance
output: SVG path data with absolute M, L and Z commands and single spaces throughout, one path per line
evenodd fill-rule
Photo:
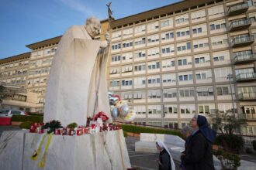
M 90 16 L 107 19 L 112 2 L 115 19 L 181 0 L 0 0 L 0 59 L 31 50 L 26 45 L 64 34 Z

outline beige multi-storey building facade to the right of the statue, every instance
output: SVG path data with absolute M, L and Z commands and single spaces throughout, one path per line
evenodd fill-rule
M 138 124 L 231 111 L 256 133 L 256 1 L 187 0 L 111 22 L 109 90 Z

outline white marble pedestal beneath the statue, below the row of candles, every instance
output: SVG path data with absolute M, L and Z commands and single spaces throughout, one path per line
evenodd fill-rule
M 4 134 L 8 133 L 5 132 Z M 1 141 L 5 140 L 5 136 L 2 135 Z M 31 156 L 34 150 L 38 148 L 43 134 L 22 134 L 20 132 L 19 135 L 16 134 L 16 137 L 19 138 L 20 143 L 18 145 L 15 146 L 12 142 L 17 138 L 12 138 L 7 142 L 8 147 L 3 148 L 0 152 L 0 169 L 119 170 L 130 168 L 130 160 L 122 130 L 82 136 L 53 135 L 43 168 L 38 168 L 38 163 L 43 156 L 48 136 L 43 141 L 42 149 L 36 161 L 32 160 Z M 14 148 L 16 153 L 13 152 Z M 9 151 L 12 153 L 9 153 Z M 5 160 L 5 162 L 2 162 L 2 160 Z

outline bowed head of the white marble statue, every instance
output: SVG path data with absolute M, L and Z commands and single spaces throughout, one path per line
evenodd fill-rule
M 86 20 L 85 29 L 92 38 L 95 38 L 95 36 L 99 36 L 101 32 L 101 25 L 99 19 L 96 19 L 95 17 L 88 18 Z

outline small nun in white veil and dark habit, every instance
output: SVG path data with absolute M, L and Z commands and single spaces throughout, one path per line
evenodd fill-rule
M 175 162 L 171 157 L 170 151 L 166 145 L 164 145 L 164 142 L 157 141 L 156 145 L 157 150 L 160 151 L 158 160 L 159 170 L 175 170 Z

